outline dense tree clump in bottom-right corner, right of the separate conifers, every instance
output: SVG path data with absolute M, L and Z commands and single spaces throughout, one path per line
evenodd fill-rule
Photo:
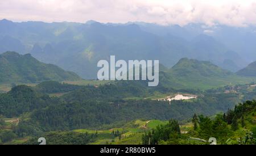
M 229 110 L 226 119 L 224 115 L 217 115 L 214 120 L 200 116 L 200 127 L 197 131 L 205 140 L 216 137 L 218 144 L 255 144 L 255 111 L 256 102 L 247 101 L 238 104 L 234 110 Z

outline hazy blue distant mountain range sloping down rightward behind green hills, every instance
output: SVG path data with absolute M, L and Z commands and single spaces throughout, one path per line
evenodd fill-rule
M 183 57 L 210 61 L 231 71 L 249 64 L 214 35 L 204 33 L 199 26 L 196 28 L 199 30 L 191 35 L 194 31 L 191 26 L 1 20 L 0 52 L 9 49 L 31 53 L 39 61 L 74 71 L 83 78 L 96 78 L 97 62 L 109 60 L 111 54 L 122 60 L 160 60 L 168 68 Z M 152 29 L 162 29 L 162 33 Z

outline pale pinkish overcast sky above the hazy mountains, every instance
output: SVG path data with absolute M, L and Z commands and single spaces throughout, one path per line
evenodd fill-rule
M 243 27 L 256 25 L 256 0 L 1 0 L 0 19 Z

